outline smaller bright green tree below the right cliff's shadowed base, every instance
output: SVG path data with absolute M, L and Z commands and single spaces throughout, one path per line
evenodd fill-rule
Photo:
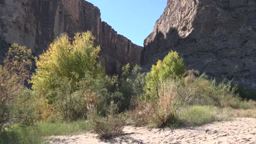
M 180 78 L 185 73 L 185 64 L 177 52 L 169 52 L 163 61 L 158 61 L 152 65 L 150 73 L 146 76 L 146 86 L 144 87 L 144 100 L 156 100 L 158 98 L 158 85 L 160 81 L 166 79 Z

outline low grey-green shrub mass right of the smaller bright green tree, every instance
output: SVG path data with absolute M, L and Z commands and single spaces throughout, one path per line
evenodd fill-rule
M 205 74 L 199 77 L 187 75 L 180 80 L 178 85 L 179 98 L 185 96 L 188 104 L 191 105 L 246 108 L 245 105 L 248 104 L 248 107 L 253 107 L 252 103 L 242 101 L 235 92 L 236 86 L 232 85 L 232 81 L 224 79 L 218 83 L 214 79 L 209 79 Z M 184 102 L 184 98 L 180 101 Z

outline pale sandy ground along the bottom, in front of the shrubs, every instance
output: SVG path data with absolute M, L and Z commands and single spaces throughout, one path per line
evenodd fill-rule
M 182 129 L 147 129 L 125 127 L 125 134 L 115 139 L 99 140 L 96 134 L 49 137 L 48 143 L 255 143 L 256 119 L 236 118 Z

